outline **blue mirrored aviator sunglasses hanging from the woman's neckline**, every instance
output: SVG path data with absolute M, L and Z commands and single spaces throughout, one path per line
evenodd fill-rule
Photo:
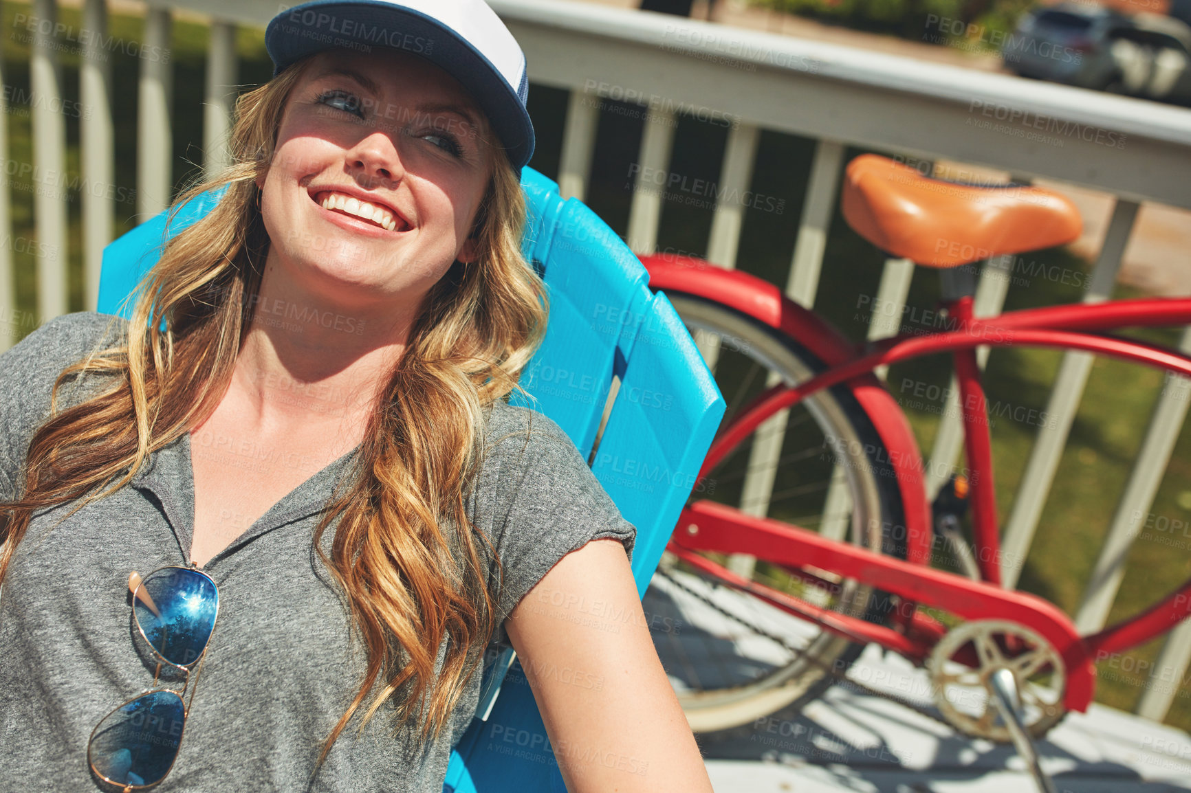
M 157 672 L 152 687 L 105 716 L 87 743 L 92 770 L 121 786 L 121 793 L 152 787 L 174 767 L 191 710 L 182 697 L 189 687 L 194 701 L 191 668 L 199 664 L 197 686 L 219 611 L 216 582 L 194 568 L 162 567 L 144 579 L 132 573 L 129 589 L 132 617 L 152 649 Z M 185 676 L 181 693 L 158 688 L 163 666 Z

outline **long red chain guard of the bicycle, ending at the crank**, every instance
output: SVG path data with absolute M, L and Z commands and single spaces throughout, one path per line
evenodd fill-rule
M 1091 654 L 1071 619 L 1041 598 L 825 539 L 805 529 L 744 514 L 715 501 L 696 501 L 684 508 L 671 542 L 691 551 L 749 554 L 778 564 L 827 570 L 965 619 L 1002 619 L 1025 625 L 1062 656 L 1067 668 L 1066 708 L 1083 712 L 1092 701 L 1096 668 Z M 786 598 L 799 600 L 794 595 Z M 800 608 L 806 613 L 821 611 L 805 600 L 800 601 Z M 798 610 L 787 611 L 803 616 Z M 903 650 L 900 643 L 886 644 L 884 636 L 872 631 L 872 623 L 838 613 L 831 619 L 841 630 L 872 636 L 883 647 Z

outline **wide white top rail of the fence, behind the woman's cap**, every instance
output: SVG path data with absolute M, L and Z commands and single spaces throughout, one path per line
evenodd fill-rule
M 270 0 L 150 0 L 263 26 Z M 701 20 L 492 0 L 530 81 L 1191 207 L 1191 110 Z

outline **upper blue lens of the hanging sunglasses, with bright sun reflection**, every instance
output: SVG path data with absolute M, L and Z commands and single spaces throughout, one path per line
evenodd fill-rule
M 211 579 L 183 568 L 166 568 L 145 579 L 144 598 L 133 598 L 145 638 L 170 663 L 187 667 L 199 660 L 216 625 L 219 594 Z

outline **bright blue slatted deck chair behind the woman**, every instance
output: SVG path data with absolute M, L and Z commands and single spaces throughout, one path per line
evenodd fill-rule
M 649 291 L 648 273 L 616 232 L 576 199 L 563 201 L 557 185 L 530 168 L 522 188 L 529 210 L 523 251 L 545 281 L 550 319 L 520 381 L 531 400 L 515 393 L 512 402 L 554 419 L 637 527 L 632 574 L 643 597 L 724 400 L 674 307 Z M 204 193 L 168 227 L 162 212 L 107 245 L 98 310 L 119 313 L 164 242 L 220 195 Z M 619 387 L 597 447 L 613 375 Z M 476 716 L 451 753 L 443 793 L 565 791 L 534 694 L 506 649 L 485 666 Z

